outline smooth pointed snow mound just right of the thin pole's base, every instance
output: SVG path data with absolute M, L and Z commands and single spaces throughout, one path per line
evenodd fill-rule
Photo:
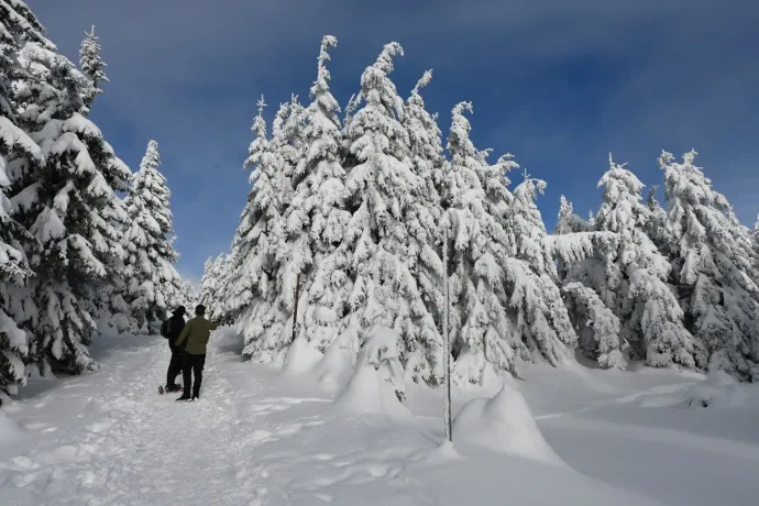
M 566 465 L 543 438 L 522 395 L 504 383 L 493 398 L 466 403 L 453 420 L 453 442 Z

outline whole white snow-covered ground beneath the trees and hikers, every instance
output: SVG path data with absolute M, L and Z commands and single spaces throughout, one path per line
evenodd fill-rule
M 439 392 L 406 385 L 410 419 L 362 416 L 332 404 L 314 378 L 243 362 L 223 331 L 212 341 L 195 404 L 157 395 L 168 360 L 161 338 L 102 338 L 92 345 L 99 371 L 34 381 L 0 411 L 0 504 L 759 501 L 755 386 L 535 366 L 503 391 L 454 391 L 454 415 L 474 396 L 502 392 L 468 406 L 451 451 L 439 449 Z

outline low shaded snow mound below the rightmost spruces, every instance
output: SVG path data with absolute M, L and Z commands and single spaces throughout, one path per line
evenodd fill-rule
M 686 406 L 691 408 L 735 409 L 745 407 L 747 402 L 748 394 L 745 385 L 739 384 L 724 371 L 713 371 L 706 376 L 706 380 L 686 391 L 679 394 L 644 398 L 638 403 L 638 406 L 644 408 Z

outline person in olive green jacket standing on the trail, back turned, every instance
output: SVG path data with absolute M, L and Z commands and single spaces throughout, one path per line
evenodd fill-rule
M 182 375 L 185 381 L 185 392 L 177 402 L 196 400 L 200 398 L 200 384 L 202 383 L 202 370 L 206 366 L 206 345 L 211 332 L 218 328 L 218 323 L 206 319 L 206 306 L 202 304 L 195 308 L 195 318 L 189 320 L 182 329 L 176 345 L 185 350 Z M 195 373 L 195 385 L 193 385 Z M 193 397 L 190 397 L 190 386 Z

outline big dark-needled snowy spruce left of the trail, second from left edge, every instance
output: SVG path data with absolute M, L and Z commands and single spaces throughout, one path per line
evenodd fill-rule
M 114 190 L 125 189 L 130 172 L 84 117 L 91 81 L 35 33 L 18 55 L 26 76 L 14 82 L 12 100 L 44 163 L 15 153 L 7 166 L 14 217 L 41 244 L 40 253 L 26 246 L 37 276 L 20 296 L 38 314 L 25 311 L 23 327 L 35 336 L 31 351 L 43 372 L 52 359 L 78 373 L 96 366 L 86 348 L 91 312 L 103 305 L 109 276 L 119 274 L 111 268 L 122 253 L 113 223 L 127 216 Z

